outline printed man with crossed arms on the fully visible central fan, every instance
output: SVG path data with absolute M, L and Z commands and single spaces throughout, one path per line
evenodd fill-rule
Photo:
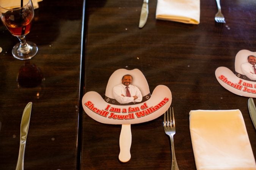
M 132 76 L 126 74 L 122 77 L 122 83 L 113 87 L 113 96 L 120 104 L 135 104 L 141 102 L 142 95 L 138 87 L 131 85 Z

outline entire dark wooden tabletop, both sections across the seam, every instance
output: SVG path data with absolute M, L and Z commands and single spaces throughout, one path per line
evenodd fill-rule
M 0 25 L 1 170 L 16 167 L 21 116 L 30 101 L 26 170 L 170 169 L 162 116 L 131 126 L 132 157 L 121 163 L 121 125 L 101 124 L 82 110 L 83 94 L 96 91 L 104 98 L 108 79 L 119 68 L 141 70 L 151 93 L 160 84 L 170 88 L 181 170 L 196 169 L 190 110 L 239 109 L 256 158 L 248 97 L 225 90 L 214 74 L 219 66 L 234 71 L 240 49 L 256 51 L 256 2 L 222 1 L 227 22 L 222 26 L 214 22 L 214 0 L 201 1 L 199 25 L 155 20 L 156 3 L 149 1 L 148 21 L 139 29 L 142 1 L 86 0 L 83 6 L 82 0 L 43 0 L 27 36 L 39 52 L 28 62 L 14 59 L 11 48 L 18 40 Z M 29 83 L 17 81 L 24 66 L 31 70 L 25 74 L 33 78 Z

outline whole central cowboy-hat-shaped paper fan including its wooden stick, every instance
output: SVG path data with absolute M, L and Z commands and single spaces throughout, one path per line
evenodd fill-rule
M 121 124 L 119 160 L 130 160 L 130 124 L 151 121 L 165 113 L 171 105 L 171 91 L 165 85 L 155 87 L 152 94 L 146 78 L 138 69 L 116 70 L 109 78 L 105 99 L 95 91 L 85 93 L 83 109 L 88 116 L 104 124 Z

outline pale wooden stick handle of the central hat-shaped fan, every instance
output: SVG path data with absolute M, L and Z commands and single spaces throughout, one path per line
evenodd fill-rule
M 132 132 L 131 125 L 124 124 L 121 128 L 120 138 L 119 138 L 119 160 L 121 162 L 128 162 L 131 158 L 130 147 L 132 145 Z

